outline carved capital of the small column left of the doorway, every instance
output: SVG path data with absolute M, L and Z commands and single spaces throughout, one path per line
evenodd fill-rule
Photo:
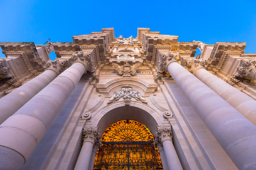
M 82 128 L 82 142 L 101 145 L 99 128 Z

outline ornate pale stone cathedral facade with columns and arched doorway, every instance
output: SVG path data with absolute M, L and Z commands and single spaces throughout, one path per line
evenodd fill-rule
M 0 45 L 0 169 L 256 169 L 244 42 L 103 28 Z

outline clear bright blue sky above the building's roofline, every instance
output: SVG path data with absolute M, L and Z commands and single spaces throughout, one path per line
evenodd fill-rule
M 72 35 L 112 27 L 116 37 L 135 38 L 141 27 L 178 41 L 247 42 L 245 52 L 256 53 L 255 0 L 0 0 L 0 7 L 0 42 L 73 42 Z

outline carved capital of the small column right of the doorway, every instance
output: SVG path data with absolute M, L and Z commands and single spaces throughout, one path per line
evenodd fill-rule
M 166 140 L 172 141 L 173 133 L 171 127 L 158 127 L 156 132 L 156 140 L 154 144 L 161 146 Z

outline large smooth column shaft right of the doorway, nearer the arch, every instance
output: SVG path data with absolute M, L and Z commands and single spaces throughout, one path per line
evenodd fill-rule
M 178 62 L 167 68 L 238 169 L 255 169 L 256 126 Z

